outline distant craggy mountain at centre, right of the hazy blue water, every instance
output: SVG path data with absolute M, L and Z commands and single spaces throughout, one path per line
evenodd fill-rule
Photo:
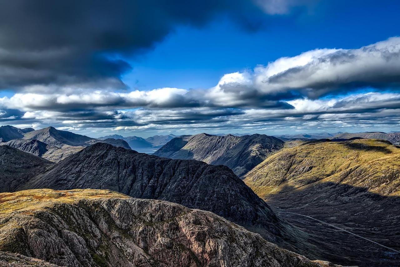
M 195 159 L 225 165 L 242 176 L 282 149 L 284 142 L 268 135 L 216 136 L 199 134 L 172 139 L 154 155 L 171 159 Z

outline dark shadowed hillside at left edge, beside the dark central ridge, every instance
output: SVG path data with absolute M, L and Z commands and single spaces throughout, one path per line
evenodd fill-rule
M 0 146 L 0 192 L 15 191 L 28 177 L 43 170 L 49 161 L 19 149 Z

